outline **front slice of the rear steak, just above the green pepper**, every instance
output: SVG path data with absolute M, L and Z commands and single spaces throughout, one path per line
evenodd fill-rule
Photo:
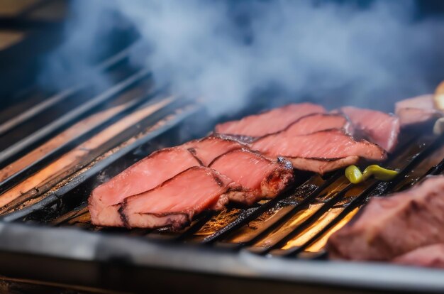
M 384 160 L 387 156 L 379 146 L 365 140 L 355 141 L 337 129 L 304 136 L 282 132 L 260 138 L 251 148 L 269 158 L 288 158 L 294 168 L 320 174 L 357 163 L 359 158 Z

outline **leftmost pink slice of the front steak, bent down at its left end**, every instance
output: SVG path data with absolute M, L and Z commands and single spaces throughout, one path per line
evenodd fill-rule
M 185 148 L 165 148 L 152 153 L 91 192 L 91 222 L 122 227 L 118 209 L 126 197 L 150 190 L 196 165 L 200 165 L 199 161 Z

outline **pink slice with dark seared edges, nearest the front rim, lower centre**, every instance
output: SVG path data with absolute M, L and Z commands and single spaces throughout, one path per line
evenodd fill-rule
M 203 166 L 184 170 L 152 190 L 126 198 L 121 219 L 128 228 L 181 229 L 205 209 L 221 209 L 231 180 Z

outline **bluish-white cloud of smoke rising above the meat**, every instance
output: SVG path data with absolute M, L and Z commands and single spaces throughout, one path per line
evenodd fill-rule
M 79 35 L 94 39 L 116 26 L 97 16 L 118 13 L 150 46 L 131 62 L 150 67 L 158 85 L 199 97 L 213 116 L 303 100 L 390 111 L 444 76 L 443 21 L 418 18 L 415 1 L 77 3 L 89 21 L 74 23 L 87 28 L 73 26 L 60 52 L 71 53 Z

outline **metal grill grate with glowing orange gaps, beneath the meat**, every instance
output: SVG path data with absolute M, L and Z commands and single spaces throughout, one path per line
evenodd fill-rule
M 348 222 L 371 195 L 403 190 L 444 170 L 443 138 L 411 130 L 384 163 L 400 170 L 390 183 L 368 180 L 351 185 L 341 170 L 323 177 L 299 172 L 296 183 L 275 199 L 252 207 L 232 205 L 222 212 L 204 212 L 181 232 L 94 227 L 87 210 L 87 197 L 94 187 L 158 148 L 209 131 L 189 124 L 199 119 L 192 115 L 199 111 L 198 106 L 170 97 L 165 89 L 155 89 L 150 70 L 131 66 L 128 56 L 133 50 L 143 52 L 139 50 L 142 45 L 133 43 L 97 65 L 109 77 L 108 84 L 74 85 L 46 99 L 31 89 L 26 92 L 29 101 L 40 97 L 34 106 L 29 107 L 24 99 L 21 111 L 17 110 L 20 104 L 13 106 L 16 116 L 5 116 L 0 122 L 2 221 L 247 249 L 258 255 L 320 258 L 325 255 L 323 244 L 328 236 Z M 84 149 L 103 134 L 108 135 L 94 148 Z M 75 151 L 81 156 L 69 157 Z M 62 165 L 63 160 L 67 164 Z M 1 168 L 11 170 L 5 176 Z M 14 189 L 15 196 L 11 194 Z

